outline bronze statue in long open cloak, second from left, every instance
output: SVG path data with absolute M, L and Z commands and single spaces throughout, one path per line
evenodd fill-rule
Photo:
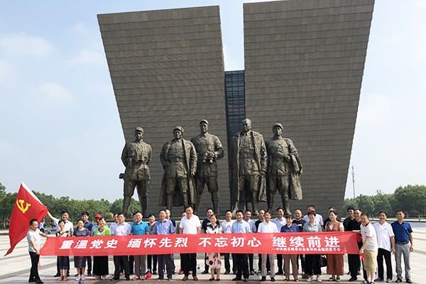
M 164 144 L 160 153 L 164 168 L 160 190 L 160 206 L 186 207 L 195 203 L 194 176 L 197 170 L 197 152 L 194 144 L 183 138 L 183 128 L 173 129 L 175 137 Z

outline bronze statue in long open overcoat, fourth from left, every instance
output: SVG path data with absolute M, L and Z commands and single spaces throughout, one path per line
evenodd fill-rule
M 243 131 L 231 142 L 231 202 L 232 214 L 239 209 L 240 197 L 253 205 L 258 215 L 258 201 L 264 201 L 266 146 L 261 133 L 251 131 L 251 120 L 244 119 Z

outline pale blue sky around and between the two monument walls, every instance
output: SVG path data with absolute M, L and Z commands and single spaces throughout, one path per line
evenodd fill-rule
M 219 5 L 225 68 L 242 70 L 246 2 L 1 1 L 0 182 L 121 197 L 124 136 L 97 14 Z M 351 155 L 356 195 L 426 184 L 424 15 L 426 1 L 376 1 Z

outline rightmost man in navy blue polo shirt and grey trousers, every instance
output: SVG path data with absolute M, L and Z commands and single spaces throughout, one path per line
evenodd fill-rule
M 403 269 L 401 267 L 401 254 L 404 256 L 405 282 L 413 283 L 410 279 L 410 251 L 413 251 L 413 229 L 408 222 L 404 221 L 403 209 L 397 209 L 396 221 L 391 224 L 395 234 L 395 263 L 396 283 L 403 282 Z

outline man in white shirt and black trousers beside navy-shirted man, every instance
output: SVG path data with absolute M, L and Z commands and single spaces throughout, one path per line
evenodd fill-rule
M 395 253 L 395 234 L 391 224 L 386 222 L 388 215 L 386 212 L 378 212 L 378 222 L 373 224 L 376 229 L 378 253 L 377 253 L 377 276 L 375 282 L 381 282 L 384 278 L 383 258 L 386 262 L 386 282 L 392 282 L 391 253 Z

